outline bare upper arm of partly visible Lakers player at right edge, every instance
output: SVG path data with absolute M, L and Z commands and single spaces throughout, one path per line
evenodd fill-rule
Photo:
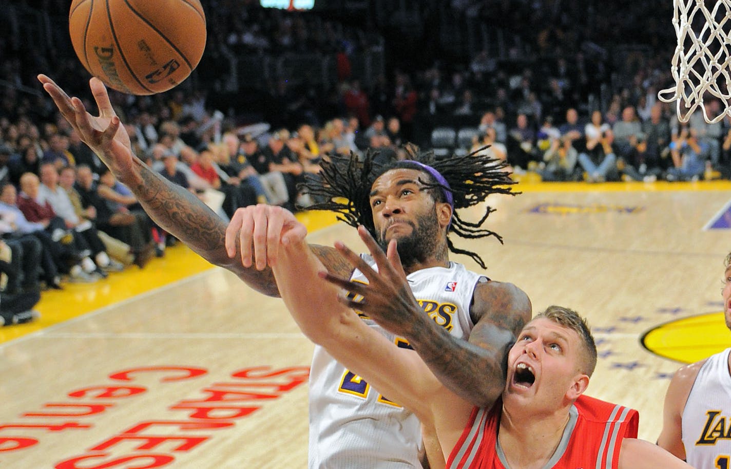
M 662 430 L 657 438 L 657 444 L 680 459 L 686 459 L 682 439 L 681 416 L 695 377 L 704 362 L 705 360 L 698 361 L 678 369 L 673 375 L 673 379 L 670 380 L 670 385 L 667 386 L 667 392 L 665 393 L 665 402 L 662 408 Z

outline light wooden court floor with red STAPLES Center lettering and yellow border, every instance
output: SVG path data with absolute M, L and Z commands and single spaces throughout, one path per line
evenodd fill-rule
M 489 199 L 504 245 L 458 243 L 534 312 L 588 317 L 599 350 L 588 394 L 640 410 L 640 437 L 654 441 L 675 369 L 731 344 L 720 296 L 731 236 L 706 229 L 730 225 L 731 183 L 520 186 Z M 306 222 L 313 243 L 361 247 L 328 216 Z M 0 331 L 1 468 L 306 468 L 312 345 L 281 300 L 181 246 L 45 293 L 39 309 L 38 323 Z

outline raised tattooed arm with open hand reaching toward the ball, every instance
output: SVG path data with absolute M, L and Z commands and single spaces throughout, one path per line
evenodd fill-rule
M 98 78 L 91 78 L 89 86 L 99 107 L 99 116 L 87 113 L 81 100 L 70 98 L 47 76 L 39 75 L 38 79 L 64 118 L 79 132 L 84 143 L 94 150 L 117 179 L 132 190 L 143 209 L 158 225 L 181 239 L 208 262 L 237 274 L 251 288 L 265 295 L 279 296 L 276 282 L 267 266 L 254 269 L 250 262 L 247 265 L 238 242 L 232 247 L 232 252 L 227 252 L 227 226 L 220 217 L 191 192 L 167 181 L 135 157 L 129 135 L 115 114 L 104 84 Z M 243 250 L 250 252 L 251 247 Z M 334 249 L 313 247 L 313 250 L 328 269 L 343 275 L 349 273 L 349 266 Z

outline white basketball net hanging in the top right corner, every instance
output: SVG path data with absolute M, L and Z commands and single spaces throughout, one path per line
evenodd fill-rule
M 705 1 L 713 3 L 708 10 Z M 673 0 L 673 26 L 678 36 L 671 71 L 675 86 L 657 94 L 677 102 L 678 119 L 687 122 L 697 108 L 708 123 L 731 116 L 731 0 Z M 703 96 L 721 101 L 721 113 L 708 116 Z

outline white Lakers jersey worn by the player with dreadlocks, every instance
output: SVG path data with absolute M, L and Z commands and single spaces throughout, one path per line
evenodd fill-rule
M 361 257 L 376 269 L 371 256 Z M 351 278 L 367 283 L 360 271 Z M 475 285 L 487 281 L 485 277 L 450 262 L 448 268 L 422 269 L 406 279 L 425 314 L 450 334 L 469 336 L 474 326 L 469 305 Z M 395 344 L 408 347 L 373 320 L 364 316 L 363 320 Z M 324 348 L 315 347 L 310 371 L 310 469 L 421 468 L 422 446 L 420 423 L 411 412 L 349 372 Z

